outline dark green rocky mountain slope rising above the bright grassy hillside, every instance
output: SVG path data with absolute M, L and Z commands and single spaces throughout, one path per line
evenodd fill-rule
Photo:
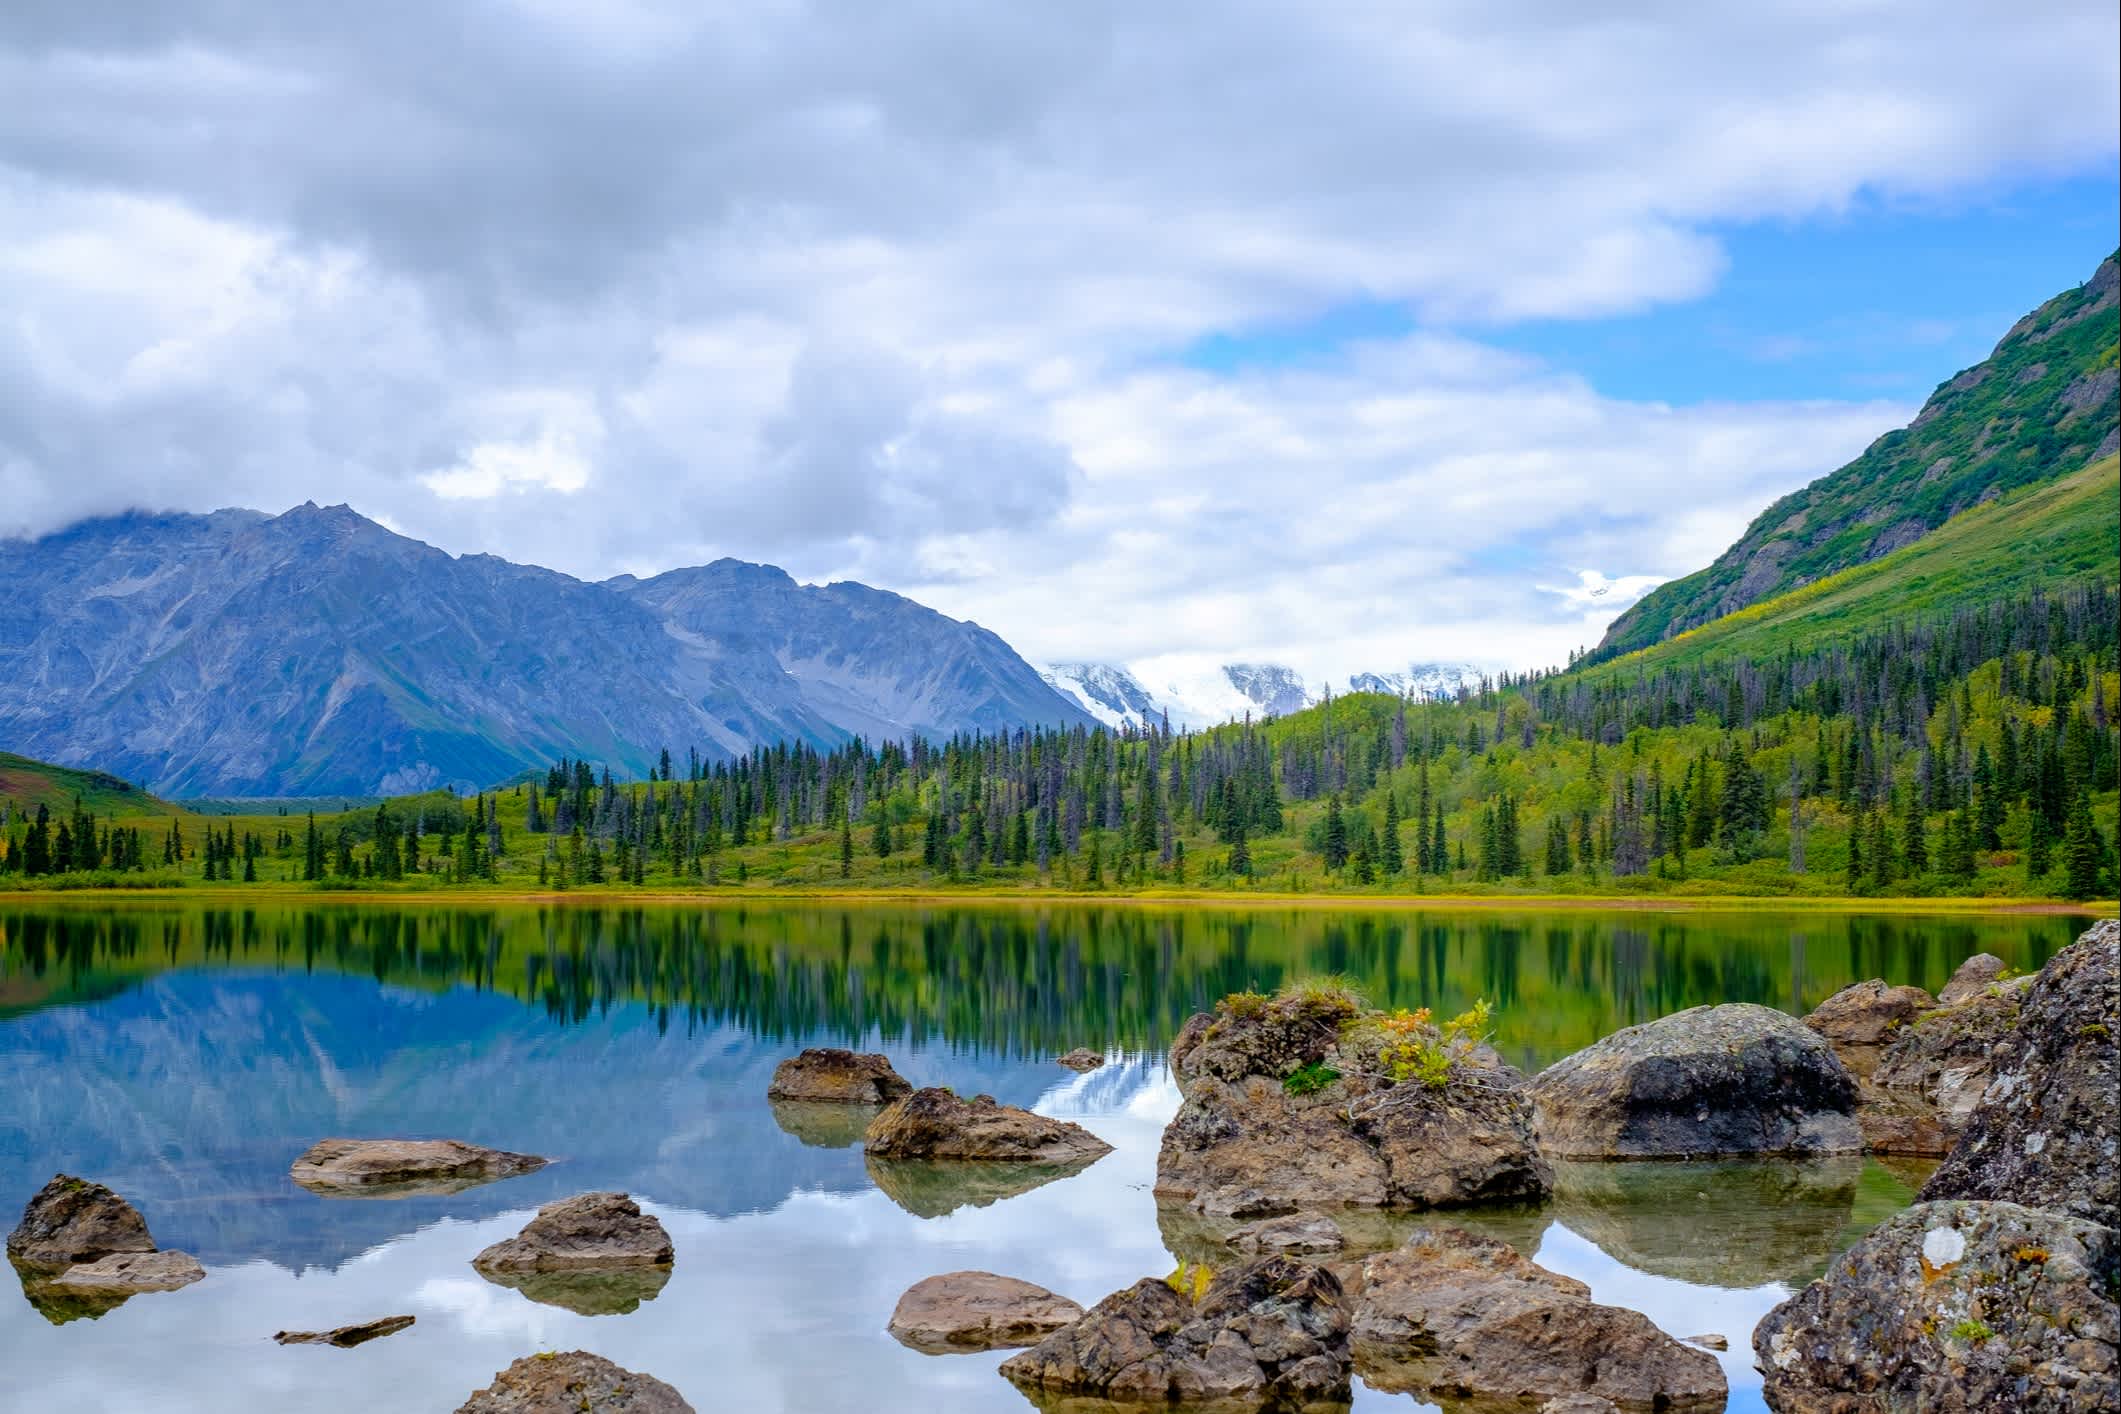
M 2121 445 L 2121 267 L 2047 301 L 1905 428 L 1784 496 L 1716 564 L 1659 585 L 1597 653 L 1650 647 L 1763 598 L 1890 555 L 2006 492 L 2066 477 Z

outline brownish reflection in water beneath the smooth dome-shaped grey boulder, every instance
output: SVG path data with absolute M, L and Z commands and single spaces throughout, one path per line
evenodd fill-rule
M 1614 1261 L 1699 1287 L 1803 1285 L 1843 1247 L 1858 1155 L 1555 1164 L 1548 1215 Z

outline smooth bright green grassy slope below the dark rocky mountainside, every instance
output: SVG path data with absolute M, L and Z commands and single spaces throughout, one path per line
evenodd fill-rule
M 1828 575 L 1589 674 L 1678 668 L 1712 657 L 1767 657 L 1847 642 L 1894 621 L 1934 617 L 2085 577 L 2121 575 L 2121 460 L 1962 511 L 1883 560 Z

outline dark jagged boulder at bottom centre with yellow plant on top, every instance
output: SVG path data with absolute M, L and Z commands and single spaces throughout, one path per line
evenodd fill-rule
M 1302 1406 L 1349 1397 L 1347 1329 L 1332 1272 L 1260 1257 L 1215 1276 L 1198 1304 L 1139 1280 L 1005 1359 L 1001 1374 L 1033 1399 Z

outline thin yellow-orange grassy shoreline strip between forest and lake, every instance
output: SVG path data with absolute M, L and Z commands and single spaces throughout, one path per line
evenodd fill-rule
M 1143 890 L 1109 892 L 1080 888 L 1010 888 L 1010 890 L 937 890 L 937 888 L 730 888 L 730 890 L 617 890 L 617 888 L 301 888 L 286 884 L 265 886 L 214 886 L 214 888 L 21 888 L 0 890 L 0 905 L 8 901 L 38 903 L 93 903 L 119 901 L 172 903 L 197 899 L 201 903 L 456 903 L 456 905 L 655 905 L 655 907 L 744 907 L 744 905 L 889 905 L 889 907 L 980 907 L 980 905 L 1111 905 L 1111 907 L 1188 907 L 1188 909 L 1355 909 L 1355 912 L 1415 912 L 1415 909 L 1466 909 L 1466 912 L 1642 912 L 1642 914 L 1748 914 L 1748 912 L 1792 912 L 1792 914 L 1947 914 L 1947 916 L 2089 916 L 2113 914 L 2108 901 L 2070 903 L 2062 899 L 1920 899 L 1886 897 L 1866 899 L 1856 895 L 1311 895 L 1311 892 L 1207 892 L 1207 890 Z

